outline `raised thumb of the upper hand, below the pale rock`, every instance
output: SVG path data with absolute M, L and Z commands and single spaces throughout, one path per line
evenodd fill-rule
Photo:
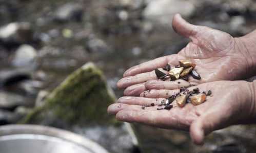
M 180 14 L 175 14 L 172 19 L 172 28 L 179 35 L 193 39 L 196 34 L 206 27 L 189 24 Z

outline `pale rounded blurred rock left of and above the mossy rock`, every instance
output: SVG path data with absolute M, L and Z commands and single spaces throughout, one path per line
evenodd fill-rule
M 15 67 L 35 67 L 36 50 L 30 45 L 20 46 L 15 53 L 13 65 Z

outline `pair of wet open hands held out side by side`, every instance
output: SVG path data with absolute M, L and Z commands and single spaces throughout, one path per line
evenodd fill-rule
M 125 122 L 189 130 L 195 144 L 203 144 L 204 137 L 213 130 L 233 124 L 255 121 L 255 99 L 252 82 L 227 81 L 248 78 L 253 74 L 250 56 L 243 39 L 204 26 L 187 23 L 179 14 L 172 20 L 174 31 L 191 41 L 178 54 L 172 54 L 135 65 L 124 73 L 117 87 L 125 89 L 124 97 L 108 107 L 108 113 Z M 168 63 L 171 69 L 179 60 L 189 59 L 196 64 L 200 80 L 159 80 L 154 69 L 162 71 Z M 163 71 L 164 72 L 164 71 Z M 178 83 L 179 82 L 179 83 Z M 211 90 L 200 105 L 186 104 L 171 110 L 156 110 L 163 99 L 179 93 L 183 86 L 195 85 L 200 91 Z M 139 96 L 140 95 L 140 96 Z M 155 106 L 145 107 L 142 105 Z

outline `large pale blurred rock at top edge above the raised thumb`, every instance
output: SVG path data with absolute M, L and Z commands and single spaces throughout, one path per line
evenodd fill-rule
M 187 18 L 190 17 L 194 11 L 195 7 L 190 1 L 152 0 L 149 1 L 143 11 L 143 16 L 153 23 L 169 26 L 174 14 L 180 13 L 184 18 Z

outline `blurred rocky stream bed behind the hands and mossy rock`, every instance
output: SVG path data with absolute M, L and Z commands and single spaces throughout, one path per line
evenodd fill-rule
M 256 28 L 254 0 L 0 0 L 0 125 L 19 123 L 89 61 L 103 72 L 116 97 L 122 96 L 116 82 L 125 70 L 177 53 L 189 42 L 171 27 L 175 13 L 234 37 Z M 253 125 L 218 130 L 198 147 L 188 133 L 136 124 L 132 132 L 122 123 L 39 124 L 71 130 L 110 152 L 256 151 Z

